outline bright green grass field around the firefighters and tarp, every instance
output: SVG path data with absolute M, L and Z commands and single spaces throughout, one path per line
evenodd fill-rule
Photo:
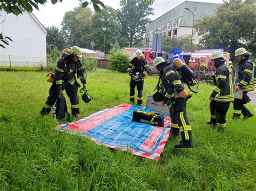
M 188 101 L 195 147 L 176 150 L 180 138 L 170 138 L 156 162 L 54 130 L 60 122 L 39 115 L 51 85 L 45 75 L 0 72 L 0 190 L 256 189 L 256 117 L 232 121 L 231 104 L 223 133 L 207 126 L 213 86 L 201 83 Z M 127 74 L 110 70 L 89 72 L 92 101 L 80 102 L 82 117 L 129 103 L 129 81 Z M 144 106 L 156 83 L 157 76 L 145 80 Z M 255 105 L 247 105 L 255 115 Z

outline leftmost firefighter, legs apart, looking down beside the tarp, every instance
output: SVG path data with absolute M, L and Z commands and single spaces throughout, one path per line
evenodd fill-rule
M 49 90 L 49 96 L 41 110 L 41 115 L 47 115 L 55 104 L 59 95 L 64 95 L 63 90 L 70 98 L 71 112 L 75 117 L 79 115 L 79 100 L 77 96 L 77 88 L 80 85 L 77 83 L 75 74 L 79 76 L 86 89 L 85 70 L 79 58 L 82 57 L 82 51 L 78 46 L 73 46 L 70 51 L 65 52 L 66 56 L 60 58 L 55 69 L 54 81 Z

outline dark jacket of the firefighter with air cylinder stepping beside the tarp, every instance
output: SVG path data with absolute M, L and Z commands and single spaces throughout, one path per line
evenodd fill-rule
M 159 76 L 163 87 L 166 88 L 165 90 L 165 97 L 166 98 L 180 98 L 178 93 L 183 91 L 183 89 L 187 89 L 187 84 L 184 83 L 178 69 L 173 65 L 166 66 L 164 69 L 160 70 Z M 189 90 L 188 90 L 189 91 Z M 191 97 L 191 92 L 190 96 Z

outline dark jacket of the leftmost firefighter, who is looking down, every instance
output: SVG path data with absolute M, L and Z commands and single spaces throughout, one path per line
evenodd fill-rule
M 57 89 L 62 89 L 62 84 L 64 82 L 73 85 L 76 82 L 75 74 L 77 74 L 83 84 L 86 83 L 85 71 L 80 60 L 75 62 L 71 59 L 70 55 L 60 58 L 54 75 Z

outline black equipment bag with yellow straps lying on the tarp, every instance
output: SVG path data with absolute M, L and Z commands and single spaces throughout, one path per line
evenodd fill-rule
M 154 126 L 164 126 L 164 117 L 155 112 L 145 112 L 140 110 L 133 111 L 133 122 L 148 123 Z

